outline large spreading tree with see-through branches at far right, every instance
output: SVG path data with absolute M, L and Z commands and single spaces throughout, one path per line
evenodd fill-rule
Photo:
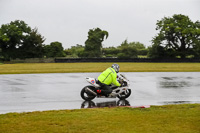
M 175 14 L 173 17 L 164 17 L 157 21 L 156 30 L 159 30 L 159 33 L 152 40 L 154 51 L 155 48 L 163 49 L 166 56 L 181 58 L 191 54 L 200 55 L 197 50 L 199 47 L 197 45 L 200 43 L 199 21 L 192 22 L 188 16 Z M 169 51 L 174 53 L 168 55 Z M 154 54 L 153 51 L 151 53 Z

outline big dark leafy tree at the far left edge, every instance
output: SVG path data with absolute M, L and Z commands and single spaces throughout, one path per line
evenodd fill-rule
M 24 21 L 11 21 L 0 28 L 1 56 L 7 60 L 41 57 L 44 40 L 37 29 L 31 29 Z

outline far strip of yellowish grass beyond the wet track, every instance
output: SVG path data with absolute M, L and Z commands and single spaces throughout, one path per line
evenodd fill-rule
M 113 63 L 1 64 L 0 74 L 101 72 Z M 200 63 L 118 63 L 121 72 L 200 72 Z

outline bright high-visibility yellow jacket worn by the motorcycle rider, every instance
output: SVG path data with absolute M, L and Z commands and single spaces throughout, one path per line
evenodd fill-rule
M 121 84 L 117 81 L 117 73 L 115 70 L 111 67 L 107 68 L 105 71 L 103 71 L 99 77 L 98 80 L 101 83 L 104 83 L 106 85 L 114 84 L 116 86 L 121 86 Z

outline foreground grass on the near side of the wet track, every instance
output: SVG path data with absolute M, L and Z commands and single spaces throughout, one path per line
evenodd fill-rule
M 200 104 L 9 113 L 1 133 L 199 133 Z

